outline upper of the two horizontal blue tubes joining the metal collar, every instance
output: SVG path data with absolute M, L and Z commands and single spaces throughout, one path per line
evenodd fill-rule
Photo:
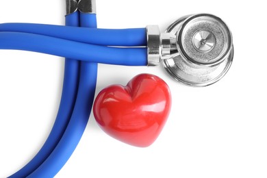
M 147 46 L 147 31 L 139 29 L 90 29 L 31 23 L 3 23 L 0 31 L 24 32 L 104 46 Z

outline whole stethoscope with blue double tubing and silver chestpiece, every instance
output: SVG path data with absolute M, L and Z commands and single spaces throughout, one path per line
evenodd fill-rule
M 0 49 L 66 58 L 62 99 L 49 138 L 38 154 L 10 177 L 53 177 L 64 166 L 90 116 L 97 63 L 126 66 L 162 63 L 177 81 L 208 86 L 227 73 L 233 60 L 231 31 L 217 16 L 183 16 L 164 33 L 156 25 L 97 29 L 94 0 L 66 0 L 66 4 L 66 26 L 0 25 Z

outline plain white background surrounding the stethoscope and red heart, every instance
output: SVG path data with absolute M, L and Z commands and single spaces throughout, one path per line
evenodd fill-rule
M 64 25 L 64 1 L 0 0 L 0 23 Z M 162 67 L 99 65 L 97 93 L 139 73 L 162 77 L 172 112 L 156 142 L 140 149 L 107 136 L 90 116 L 77 149 L 56 177 L 267 177 L 267 11 L 265 1 L 97 0 L 101 28 L 160 25 L 207 12 L 233 33 L 227 75 L 206 88 L 171 79 Z M 0 41 L 1 42 L 1 41 Z M 26 164 L 46 140 L 57 114 L 64 60 L 0 51 L 0 177 Z

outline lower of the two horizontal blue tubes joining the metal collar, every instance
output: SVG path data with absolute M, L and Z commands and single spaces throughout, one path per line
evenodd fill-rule
M 147 66 L 147 48 L 103 47 L 21 32 L 0 32 L 0 49 L 35 51 L 103 64 Z

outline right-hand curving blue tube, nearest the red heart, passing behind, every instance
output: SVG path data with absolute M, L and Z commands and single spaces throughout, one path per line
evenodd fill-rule
M 82 26 L 97 27 L 95 14 L 80 14 Z M 66 164 L 81 139 L 94 101 L 94 91 L 97 84 L 97 64 L 81 62 L 79 89 L 71 120 L 64 136 L 47 160 L 29 177 L 54 177 Z

